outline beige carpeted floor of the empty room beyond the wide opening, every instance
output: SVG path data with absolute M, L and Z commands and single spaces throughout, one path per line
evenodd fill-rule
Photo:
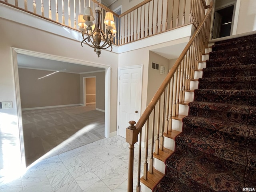
M 22 112 L 26 164 L 104 137 L 104 112 L 95 105 Z

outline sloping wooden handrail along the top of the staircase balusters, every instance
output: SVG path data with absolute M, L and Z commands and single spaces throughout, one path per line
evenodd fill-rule
M 186 45 L 186 47 L 184 48 L 184 50 L 180 54 L 179 58 L 176 60 L 174 66 L 172 67 L 170 72 L 167 74 L 167 76 L 164 79 L 164 81 L 162 82 L 161 86 L 156 91 L 156 94 L 154 95 L 154 97 L 152 98 L 150 103 L 148 104 L 146 110 L 143 112 L 142 116 L 140 117 L 140 119 L 136 123 L 136 132 L 139 133 L 141 131 L 142 127 L 144 126 L 144 124 L 146 122 L 146 120 L 148 119 L 148 116 L 151 114 L 152 110 L 154 109 L 154 106 L 156 106 L 159 98 L 161 97 L 161 95 L 164 92 L 166 86 L 170 82 L 170 79 L 174 75 L 174 72 L 177 70 L 177 68 L 178 68 L 180 62 L 182 61 L 183 57 L 185 56 L 186 52 L 188 52 L 188 49 L 191 46 L 192 42 L 194 41 L 194 39 L 196 38 L 196 36 L 200 32 L 201 28 L 203 27 L 203 24 L 206 21 L 207 16 L 210 14 L 211 10 L 212 10 L 212 6 L 210 7 L 209 11 L 207 12 L 207 14 L 204 17 L 204 20 L 201 22 L 200 26 L 197 28 L 196 32 L 190 38 L 188 44 Z

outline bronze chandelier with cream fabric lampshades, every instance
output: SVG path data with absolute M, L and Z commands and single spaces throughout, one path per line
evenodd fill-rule
M 101 8 L 98 6 L 95 8 L 95 24 L 94 16 L 92 12 L 92 8 L 85 7 L 84 8 L 84 15 L 78 16 L 78 26 L 80 26 L 79 30 L 82 32 L 81 46 L 83 42 L 85 42 L 88 46 L 94 48 L 94 52 L 100 57 L 100 53 L 102 49 L 107 49 L 111 47 L 112 51 L 112 42 L 113 38 L 115 37 L 116 27 L 114 22 L 114 16 L 112 12 L 106 12 L 106 16 L 104 19 L 104 24 L 106 33 L 103 30 L 103 26 L 100 22 L 100 13 Z

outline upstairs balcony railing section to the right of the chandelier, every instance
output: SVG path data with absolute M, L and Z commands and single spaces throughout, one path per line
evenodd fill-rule
M 197 27 L 205 14 L 205 0 L 144 0 L 120 14 L 118 44 L 152 36 L 194 23 Z

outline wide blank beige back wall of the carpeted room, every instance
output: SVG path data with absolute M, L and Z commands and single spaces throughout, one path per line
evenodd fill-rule
M 19 68 L 22 108 L 80 104 L 80 75 Z

